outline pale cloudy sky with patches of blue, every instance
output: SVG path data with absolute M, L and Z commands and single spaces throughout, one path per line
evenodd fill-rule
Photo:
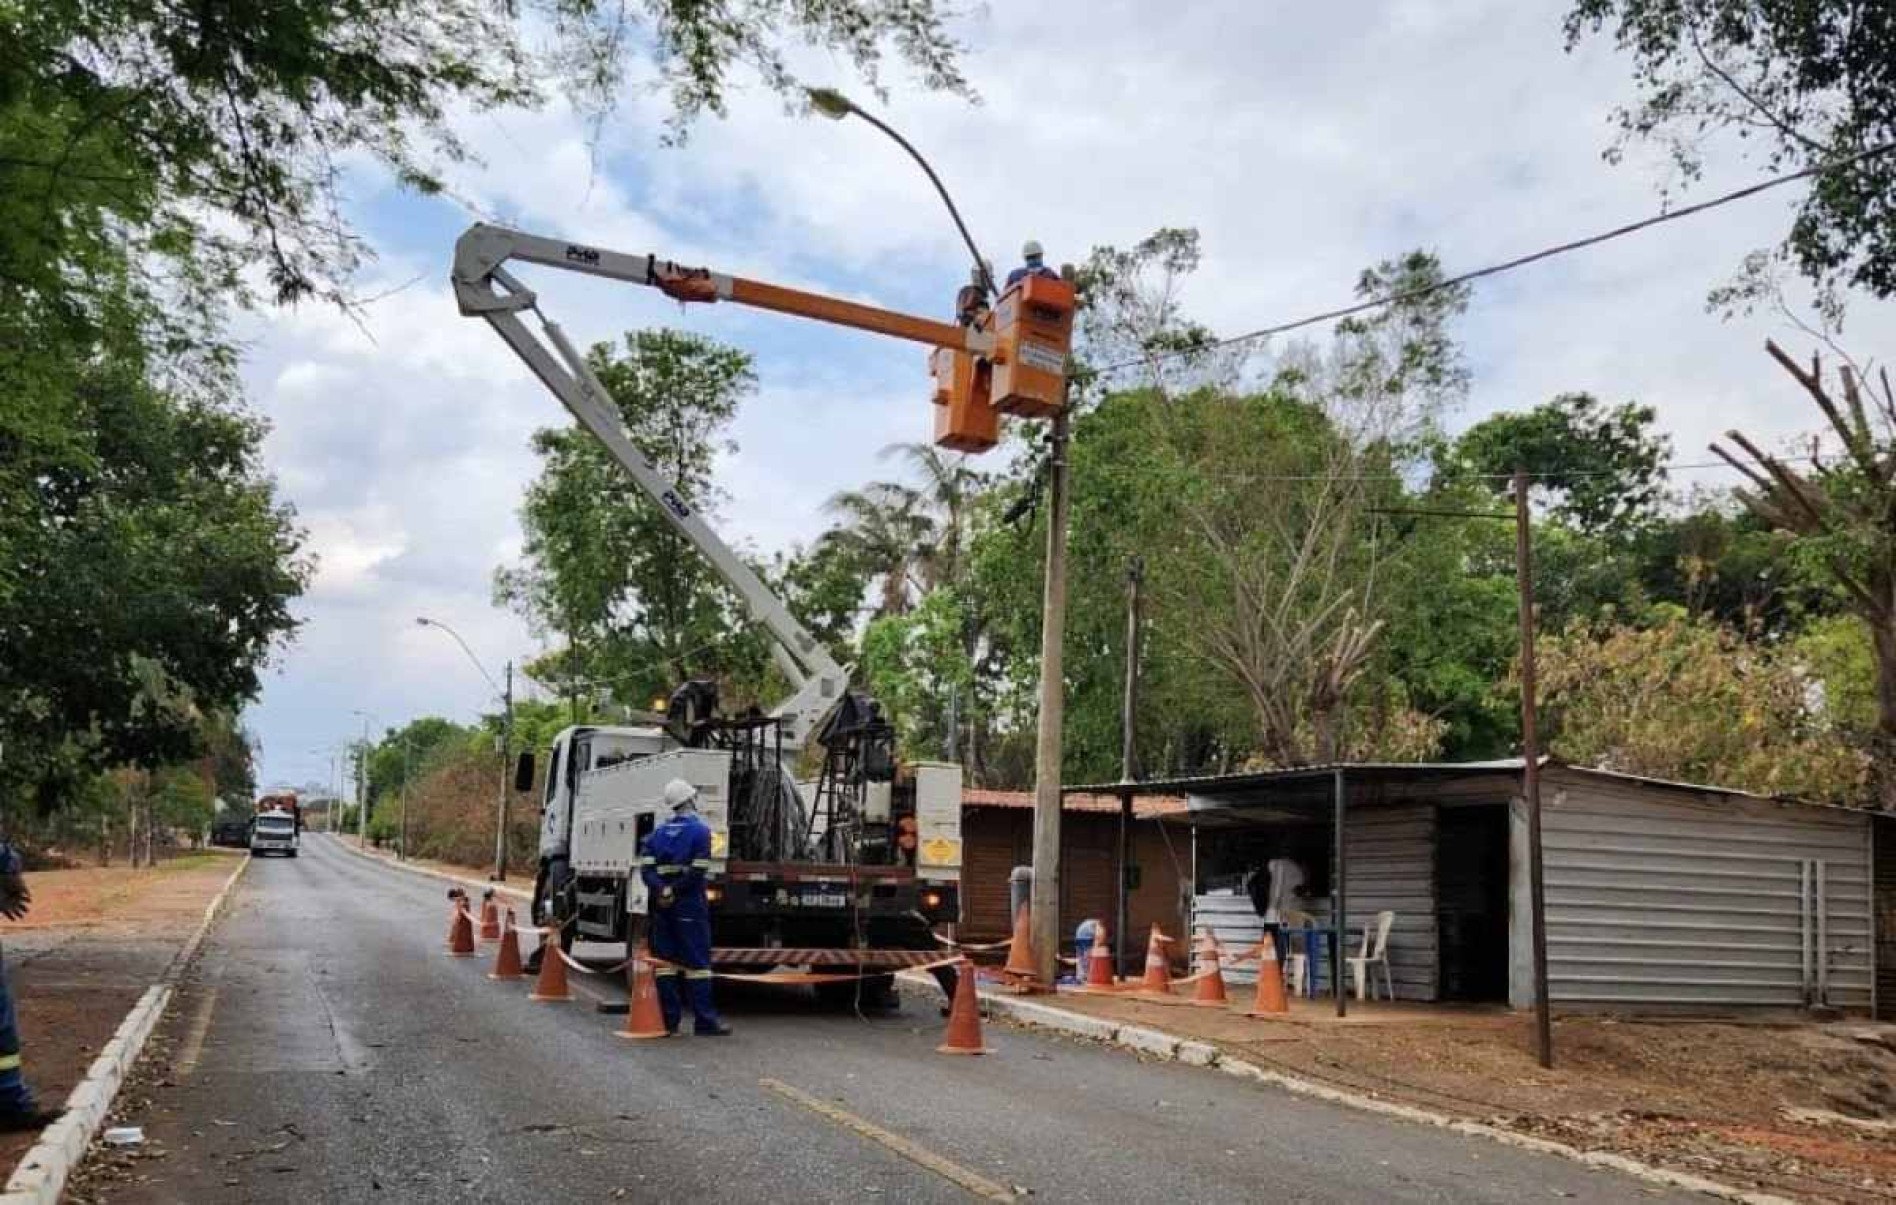
M 999 263 L 1026 237 L 1060 261 L 1196 225 L 1206 263 L 1187 307 L 1240 332 L 1346 301 L 1363 265 L 1413 246 L 1458 271 L 1659 207 L 1653 157 L 1600 157 L 1629 64 L 1606 44 L 1564 53 L 1562 8 L 990 6 L 956 30 L 978 104 L 891 72 L 876 108 L 925 150 Z M 842 63 L 806 66 L 851 83 Z M 563 411 L 485 324 L 455 313 L 447 267 L 470 222 L 946 313 L 965 254 L 925 178 L 868 125 L 794 117 L 758 89 L 684 148 L 662 146 L 662 119 L 635 89 L 592 152 L 559 108 L 470 119 L 483 163 L 457 178 L 459 199 L 355 182 L 379 256 L 362 292 L 394 290 L 364 326 L 307 307 L 245 332 L 269 466 L 320 557 L 303 627 L 248 712 L 265 782 L 324 781 L 324 750 L 360 733 L 356 712 L 379 731 L 489 705 L 480 673 L 415 616 L 453 625 L 495 674 L 537 652 L 489 584 L 518 555 L 527 440 Z M 1699 195 L 1759 171 L 1718 155 Z M 1809 404 L 1761 354 L 1767 335 L 1807 341 L 1780 318 L 1705 313 L 1706 290 L 1784 229 L 1794 191 L 1477 286 L 1460 332 L 1475 385 L 1454 424 L 1589 390 L 1655 405 L 1682 460 L 1703 460 L 1727 426 L 1769 440 L 1809 428 Z M 531 284 L 582 343 L 673 324 L 755 352 L 760 390 L 719 468 L 736 544 L 810 540 L 825 498 L 884 470 L 878 449 L 927 438 L 912 345 L 732 307 L 684 313 L 561 273 Z M 1890 309 L 1852 311 L 1849 343 L 1890 345 Z

